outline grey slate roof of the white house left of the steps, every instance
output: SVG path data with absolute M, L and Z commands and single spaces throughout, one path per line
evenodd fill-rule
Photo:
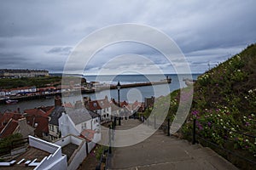
M 88 111 L 84 108 L 81 109 L 67 109 L 67 115 L 72 119 L 75 125 L 78 125 L 82 122 L 87 122 L 92 118 L 99 116 L 93 111 Z

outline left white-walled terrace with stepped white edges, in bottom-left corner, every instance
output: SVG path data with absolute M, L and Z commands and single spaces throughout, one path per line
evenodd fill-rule
M 32 136 L 28 137 L 28 141 L 29 147 L 12 150 L 14 158 L 7 162 L 0 162 L 0 168 L 28 169 L 31 167 L 36 170 L 67 169 L 67 156 L 62 154 L 60 145 L 51 144 Z

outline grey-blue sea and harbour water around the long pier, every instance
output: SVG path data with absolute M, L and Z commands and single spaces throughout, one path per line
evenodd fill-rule
M 120 88 L 119 90 L 119 100 L 126 101 L 128 103 L 133 103 L 135 101 L 143 102 L 145 98 L 160 97 L 165 96 L 167 94 L 172 93 L 172 91 L 178 88 L 186 87 L 183 82 L 183 78 L 191 78 L 196 80 L 201 74 L 168 74 L 168 75 L 101 75 L 101 76 L 86 76 L 84 78 L 87 82 L 100 82 L 102 84 L 117 84 L 118 82 L 122 84 L 130 84 L 130 83 L 139 83 L 139 82 L 158 82 L 166 77 L 172 78 L 172 82 L 170 84 L 160 84 L 154 86 L 144 86 L 144 87 L 136 87 L 136 88 Z M 115 99 L 118 101 L 118 90 L 117 89 L 108 89 L 100 92 L 96 92 L 95 94 L 82 94 L 76 96 L 68 96 L 65 97 L 63 102 L 70 102 L 74 104 L 77 100 L 83 99 L 83 97 L 90 97 L 90 99 L 104 99 L 105 97 L 108 99 Z M 49 106 L 54 105 L 54 97 L 49 99 L 34 99 L 29 101 L 20 101 L 15 105 L 0 105 L 0 112 L 3 113 L 5 111 L 17 111 L 19 108 L 20 111 L 24 111 L 26 109 L 33 109 L 40 106 Z

